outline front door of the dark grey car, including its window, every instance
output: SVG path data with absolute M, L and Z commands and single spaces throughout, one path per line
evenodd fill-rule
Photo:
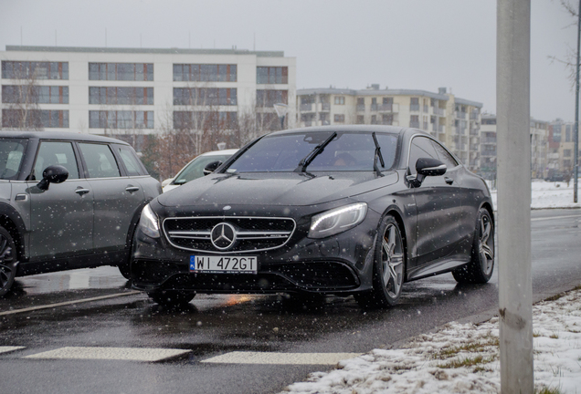
M 55 164 L 67 168 L 67 181 L 51 183 L 46 191 L 38 189 L 42 172 Z M 80 173 L 72 142 L 40 141 L 32 174 L 35 181 L 28 181 L 26 189 L 30 198 L 31 259 L 82 254 L 92 249 L 93 193 Z

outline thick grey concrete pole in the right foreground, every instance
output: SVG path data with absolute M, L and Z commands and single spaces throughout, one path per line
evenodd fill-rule
M 532 394 L 531 0 L 498 0 L 496 39 L 501 391 Z

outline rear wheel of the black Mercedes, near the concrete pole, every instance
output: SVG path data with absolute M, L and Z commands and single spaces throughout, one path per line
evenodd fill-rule
M 491 213 L 481 208 L 474 231 L 470 263 L 452 271 L 459 283 L 485 284 L 494 269 L 494 224 Z

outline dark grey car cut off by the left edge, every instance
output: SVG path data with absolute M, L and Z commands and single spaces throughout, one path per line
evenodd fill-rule
M 111 264 L 129 277 L 136 224 L 161 192 L 121 140 L 0 132 L 0 296 L 16 276 Z

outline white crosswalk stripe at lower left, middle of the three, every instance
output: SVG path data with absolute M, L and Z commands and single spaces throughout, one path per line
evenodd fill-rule
M 25 358 L 107 359 L 129 361 L 161 361 L 189 353 L 190 350 L 148 347 L 60 347 Z

